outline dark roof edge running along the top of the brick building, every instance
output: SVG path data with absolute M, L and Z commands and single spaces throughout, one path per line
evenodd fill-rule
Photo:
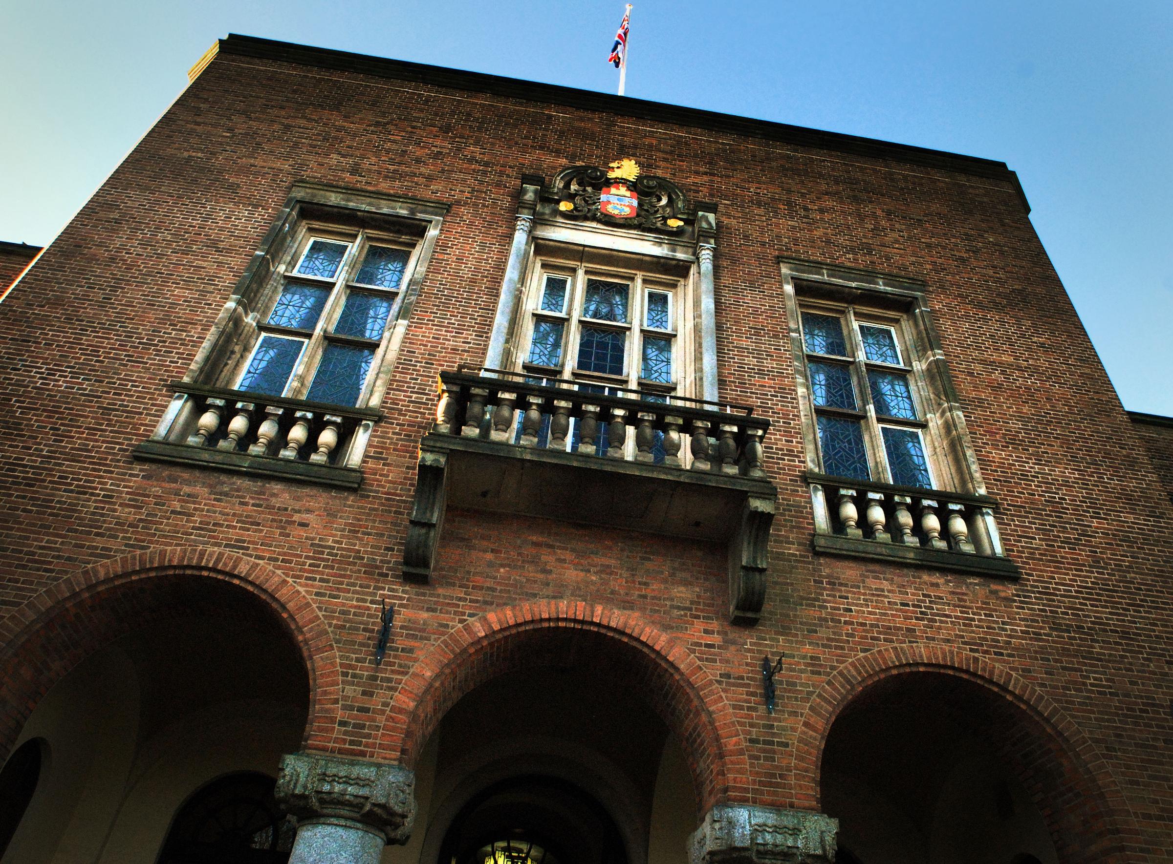
M 813 147 L 821 150 L 866 156 L 881 159 L 894 159 L 947 171 L 989 177 L 1009 182 L 1017 192 L 1023 208 L 1029 213 L 1030 204 L 1023 192 L 1018 175 L 1004 162 L 985 159 L 977 156 L 964 156 L 945 150 L 930 150 L 913 144 L 896 144 L 876 138 L 865 138 L 843 132 L 828 132 L 820 129 L 778 123 L 768 120 L 740 117 L 733 114 L 720 114 L 701 108 L 685 108 L 664 102 L 632 98 L 630 96 L 612 96 L 608 93 L 581 90 L 562 84 L 544 84 L 536 81 L 510 79 L 502 75 L 489 75 L 480 72 L 449 69 L 442 66 L 414 63 L 407 60 L 391 60 L 368 54 L 314 48 L 312 46 L 282 42 L 259 36 L 244 36 L 230 33 L 215 46 L 218 54 L 277 60 L 300 66 L 312 66 L 321 69 L 352 72 L 377 77 L 412 81 L 448 87 L 457 90 L 488 93 L 495 96 L 523 98 L 531 102 L 545 102 L 567 108 L 581 108 L 592 111 L 610 111 L 639 120 L 652 120 L 674 123 L 685 127 L 697 127 L 712 131 L 732 132 L 748 137 L 785 142 L 799 147 Z M 211 54 L 211 56 L 209 56 Z M 215 57 L 209 50 L 192 67 L 192 80 Z

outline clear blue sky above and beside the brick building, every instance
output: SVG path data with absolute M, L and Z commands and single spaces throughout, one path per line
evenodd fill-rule
M 230 32 L 613 91 L 622 13 L 0 0 L 0 239 L 49 241 Z M 1171 0 L 637 0 L 631 20 L 630 96 L 1006 162 L 1125 407 L 1173 415 Z

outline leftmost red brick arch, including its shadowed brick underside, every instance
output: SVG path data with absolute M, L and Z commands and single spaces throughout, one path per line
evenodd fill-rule
M 238 601 L 223 603 L 225 594 Z M 338 653 L 310 598 L 259 562 L 215 549 L 177 547 L 86 567 L 0 621 L 0 762 L 57 680 L 136 625 L 177 611 L 251 620 L 260 612 L 279 621 L 305 661 L 310 683 L 303 743 L 330 746 L 338 727 Z

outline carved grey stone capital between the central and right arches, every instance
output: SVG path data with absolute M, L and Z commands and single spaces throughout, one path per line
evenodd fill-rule
M 689 839 L 690 864 L 834 864 L 838 831 L 820 812 L 719 804 Z

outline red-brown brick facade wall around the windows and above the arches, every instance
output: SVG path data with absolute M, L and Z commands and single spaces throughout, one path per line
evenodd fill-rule
M 766 462 L 780 501 L 755 628 L 726 623 L 723 550 L 554 521 L 453 511 L 432 583 L 399 578 L 435 376 L 483 359 L 518 175 L 626 155 L 719 203 L 720 389 L 774 423 Z M 361 490 L 135 462 L 165 383 L 187 370 L 298 179 L 452 205 Z M 1021 581 L 812 555 L 779 254 L 930 286 Z M 400 686 L 461 625 L 576 600 L 637 614 L 717 682 L 733 717 L 721 734 L 748 760 L 732 800 L 811 807 L 795 748 L 820 746 L 800 742 L 800 728 L 828 679 L 869 652 L 937 646 L 1045 695 L 1056 734 L 1086 764 L 1106 761 L 1105 818 L 1123 825 L 1131 811 L 1138 856 L 1158 859 L 1169 836 L 1173 509 L 1134 457 L 1135 426 L 1009 176 L 222 54 L 0 305 L 0 608 L 138 551 L 205 546 L 259 562 L 328 628 L 334 749 L 379 753 Z M 377 669 L 380 598 L 398 614 Z M 762 655 L 785 658 L 773 716 Z

